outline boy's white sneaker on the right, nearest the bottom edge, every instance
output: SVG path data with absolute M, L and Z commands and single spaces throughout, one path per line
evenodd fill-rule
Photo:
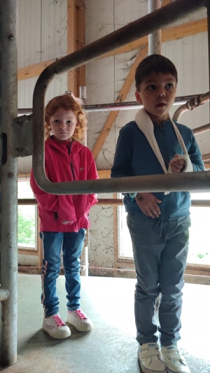
M 181 356 L 177 346 L 162 347 L 161 355 L 169 373 L 190 373 L 186 360 Z

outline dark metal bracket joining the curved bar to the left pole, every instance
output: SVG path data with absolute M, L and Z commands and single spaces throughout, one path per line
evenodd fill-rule
M 13 157 L 27 157 L 33 153 L 32 115 L 21 115 L 13 121 Z

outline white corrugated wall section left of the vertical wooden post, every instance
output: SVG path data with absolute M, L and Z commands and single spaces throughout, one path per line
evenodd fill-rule
M 63 57 L 67 51 L 67 1 L 18 0 L 18 68 Z M 38 76 L 18 81 L 18 108 L 32 108 Z M 46 101 L 64 94 L 67 73 L 49 85 Z M 31 157 L 18 159 L 19 174 L 31 170 Z

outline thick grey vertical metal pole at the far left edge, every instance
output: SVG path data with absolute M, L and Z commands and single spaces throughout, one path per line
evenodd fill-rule
M 1 131 L 7 158 L 1 167 L 1 365 L 17 361 L 18 158 L 13 158 L 13 119 L 18 115 L 17 0 L 1 0 Z

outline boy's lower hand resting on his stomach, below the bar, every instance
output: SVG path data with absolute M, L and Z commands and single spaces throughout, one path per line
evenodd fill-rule
M 144 215 L 153 219 L 160 215 L 158 204 L 161 204 L 162 201 L 155 197 L 153 193 L 137 193 L 136 202 Z

